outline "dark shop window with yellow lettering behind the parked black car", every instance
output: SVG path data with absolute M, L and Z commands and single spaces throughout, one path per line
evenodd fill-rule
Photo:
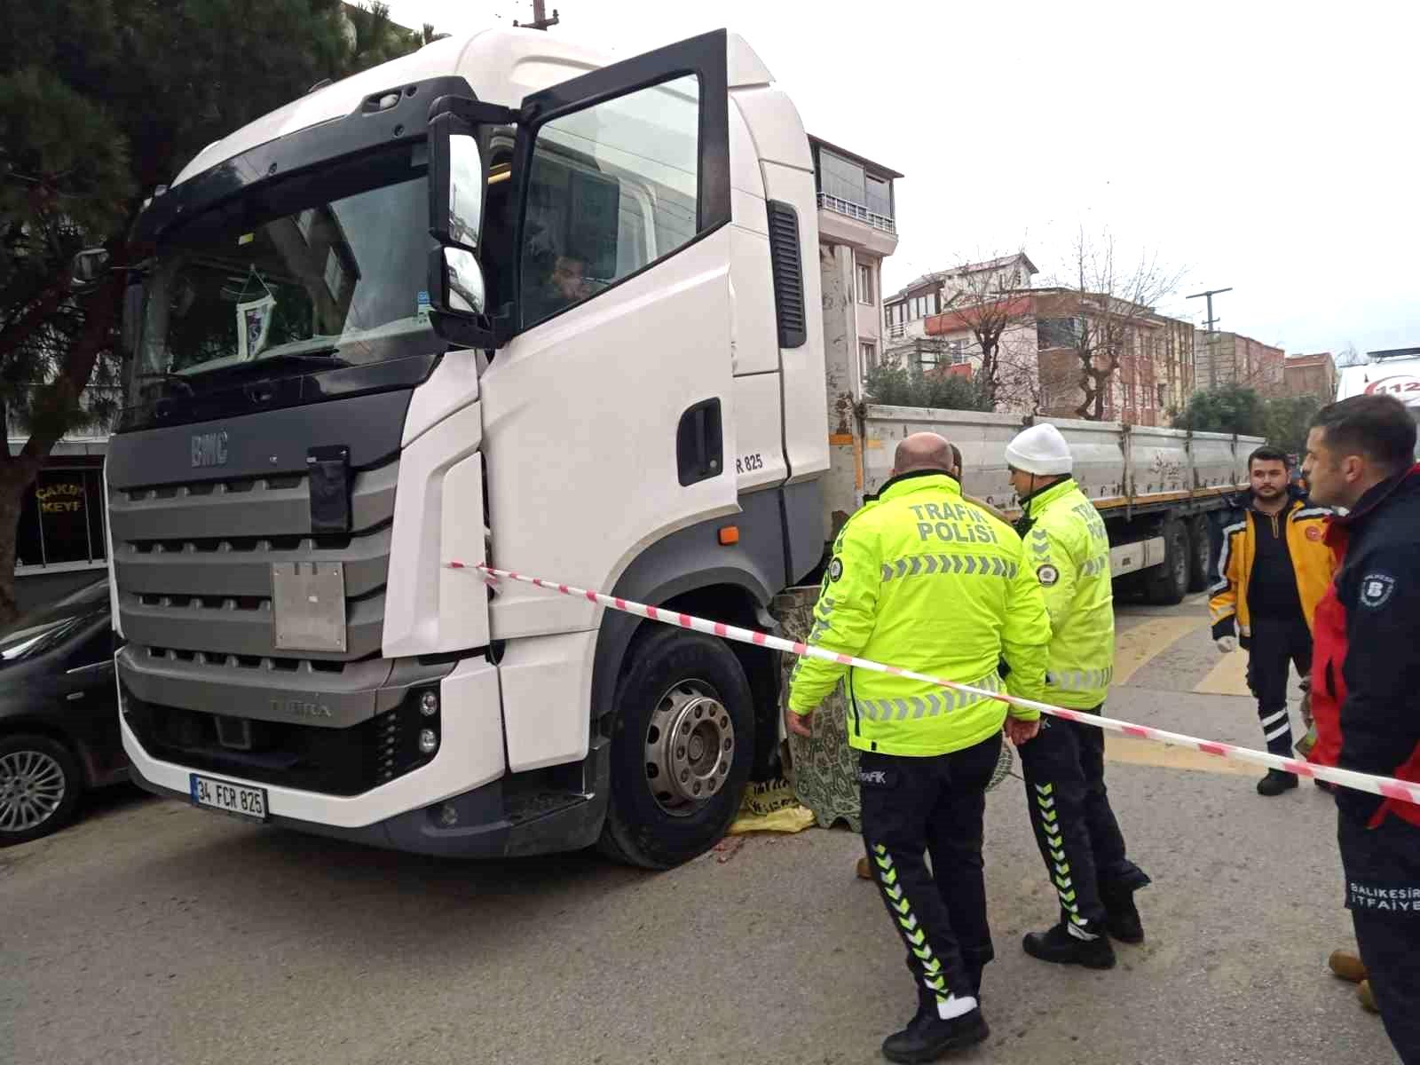
M 102 471 L 82 466 L 41 470 L 20 507 L 16 568 L 91 564 L 105 558 Z

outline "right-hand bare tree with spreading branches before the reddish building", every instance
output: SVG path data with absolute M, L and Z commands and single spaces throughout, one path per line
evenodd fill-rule
M 1152 251 L 1122 263 L 1108 231 L 1091 237 L 1081 229 L 1071 260 L 1069 281 L 1058 285 L 1049 301 L 1058 312 L 1052 318 L 1068 325 L 1056 328 L 1051 339 L 1074 356 L 1069 372 L 1082 393 L 1074 413 L 1102 422 L 1120 358 L 1133 351 L 1140 328 L 1157 318 L 1154 304 L 1179 287 L 1183 274 L 1160 264 Z M 1065 373 L 1056 368 L 1054 376 Z

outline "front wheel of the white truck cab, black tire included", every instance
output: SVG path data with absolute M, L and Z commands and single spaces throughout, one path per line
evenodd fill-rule
M 670 869 L 714 846 L 754 763 L 754 699 L 724 642 L 660 629 L 628 652 L 612 720 L 602 853 Z

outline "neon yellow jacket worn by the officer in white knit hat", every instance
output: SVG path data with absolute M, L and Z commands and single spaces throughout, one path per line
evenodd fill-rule
M 1022 500 L 1017 528 L 1051 618 L 1045 701 L 1093 710 L 1115 676 L 1115 591 L 1109 534 L 1074 477 Z

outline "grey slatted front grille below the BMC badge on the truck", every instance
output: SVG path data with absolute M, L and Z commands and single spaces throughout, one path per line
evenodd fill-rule
M 124 635 L 143 649 L 250 660 L 351 662 L 379 653 L 399 463 L 355 474 L 348 535 L 312 535 L 304 474 L 109 493 Z M 346 650 L 293 659 L 275 649 L 271 565 L 341 562 Z M 268 666 L 270 669 L 270 666 Z M 275 666 L 281 669 L 281 666 Z

